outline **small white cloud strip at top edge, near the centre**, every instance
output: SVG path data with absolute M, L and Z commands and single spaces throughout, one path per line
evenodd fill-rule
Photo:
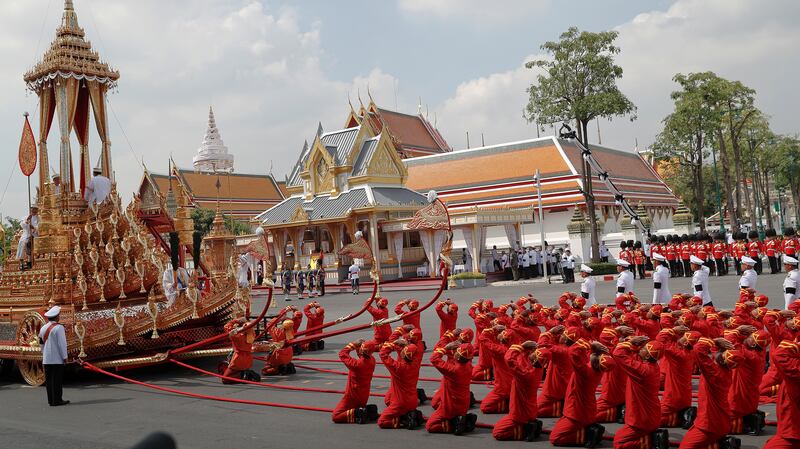
M 417 17 L 467 19 L 475 24 L 508 22 L 530 17 L 550 4 L 549 0 L 398 0 L 400 10 Z

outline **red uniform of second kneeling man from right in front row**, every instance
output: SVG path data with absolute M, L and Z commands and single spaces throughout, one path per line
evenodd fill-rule
M 697 418 L 678 449 L 705 449 L 731 430 L 731 407 L 728 403 L 731 371 L 711 357 L 711 344 L 700 340 L 693 349 L 700 368 Z

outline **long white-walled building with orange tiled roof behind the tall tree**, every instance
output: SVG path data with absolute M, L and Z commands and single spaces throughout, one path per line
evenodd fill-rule
M 678 198 L 638 153 L 596 145 L 590 149 L 651 232 L 686 232 L 677 232 L 673 222 L 673 214 L 682 207 Z M 493 246 L 507 250 L 516 242 L 523 247 L 541 245 L 536 170 L 541 177 L 545 241 L 570 246 L 582 260 L 589 258 L 581 159 L 573 141 L 542 137 L 403 162 L 408 168 L 407 187 L 436 190 L 447 205 L 454 247 L 471 255 L 480 253 L 471 257 L 473 266 L 467 269 L 485 272 L 491 271 Z M 631 217 L 620 213 L 614 195 L 596 177 L 592 187 L 600 239 L 612 249 L 623 239 L 642 239 Z

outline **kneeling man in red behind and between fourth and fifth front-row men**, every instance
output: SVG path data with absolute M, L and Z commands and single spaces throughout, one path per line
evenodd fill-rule
M 542 392 L 537 399 L 541 418 L 558 418 L 564 411 L 564 397 L 572 377 L 569 347 L 578 341 L 578 330 L 555 326 L 539 337 L 539 346 L 550 351 L 550 365 L 545 374 Z

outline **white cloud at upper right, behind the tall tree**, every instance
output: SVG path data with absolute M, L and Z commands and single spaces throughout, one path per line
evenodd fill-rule
M 601 120 L 603 144 L 646 148 L 671 112 L 672 77 L 712 70 L 756 89 L 757 104 L 772 116 L 773 129 L 797 132 L 794 106 L 800 102 L 794 74 L 800 70 L 800 3 L 776 1 L 769 8 L 744 0 L 680 0 L 667 11 L 640 14 L 618 26 L 617 63 L 624 69 L 620 89 L 638 106 L 638 119 Z M 451 145 L 465 145 L 465 131 L 486 135 L 486 143 L 535 137 L 522 119 L 525 88 L 535 79 L 523 67 L 461 83 L 436 110 Z M 596 141 L 595 126 L 590 140 Z

